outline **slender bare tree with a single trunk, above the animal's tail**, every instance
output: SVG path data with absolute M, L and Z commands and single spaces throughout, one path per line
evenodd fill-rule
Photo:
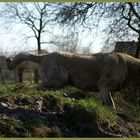
M 42 35 L 50 22 L 50 4 L 48 2 L 6 3 L 4 17 L 16 24 L 26 25 L 37 41 L 38 53 L 41 53 Z

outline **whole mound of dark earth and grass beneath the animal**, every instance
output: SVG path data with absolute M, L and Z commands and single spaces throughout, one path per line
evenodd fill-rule
M 0 94 L 1 137 L 140 137 L 139 108 L 119 94 L 113 97 L 117 110 L 70 87 L 38 92 L 26 84 L 1 86 Z

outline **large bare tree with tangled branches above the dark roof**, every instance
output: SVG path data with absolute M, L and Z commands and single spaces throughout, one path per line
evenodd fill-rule
M 117 40 L 140 42 L 139 2 L 72 2 L 61 3 L 56 20 L 61 25 L 83 25 L 90 30 L 97 28 L 101 21 L 108 21 L 104 30 L 104 50 L 112 48 Z

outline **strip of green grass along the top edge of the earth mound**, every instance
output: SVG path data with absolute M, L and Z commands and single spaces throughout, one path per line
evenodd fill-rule
M 100 118 L 106 118 L 115 121 L 115 111 L 112 108 L 105 107 L 100 101 L 93 98 L 84 99 L 74 99 L 69 97 L 64 97 L 62 93 L 68 95 L 71 94 L 83 94 L 83 92 L 74 87 L 66 87 L 60 90 L 49 90 L 49 91 L 37 91 L 36 86 L 29 83 L 24 84 L 9 84 L 0 86 L 0 96 L 15 95 L 24 96 L 29 99 L 34 97 L 43 97 L 46 102 L 50 102 L 52 107 L 55 105 L 69 106 L 69 107 L 79 107 L 85 109 L 87 112 L 96 112 Z

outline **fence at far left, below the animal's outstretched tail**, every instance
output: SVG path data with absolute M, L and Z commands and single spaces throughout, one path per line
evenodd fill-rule
M 36 53 L 32 51 L 32 53 Z M 47 53 L 45 50 L 42 50 L 42 53 Z M 23 66 L 18 67 L 15 70 L 9 71 L 6 64 L 6 56 L 0 56 L 0 84 L 4 83 L 15 83 L 22 81 L 31 81 L 38 83 L 39 70 L 38 64 L 24 63 Z

